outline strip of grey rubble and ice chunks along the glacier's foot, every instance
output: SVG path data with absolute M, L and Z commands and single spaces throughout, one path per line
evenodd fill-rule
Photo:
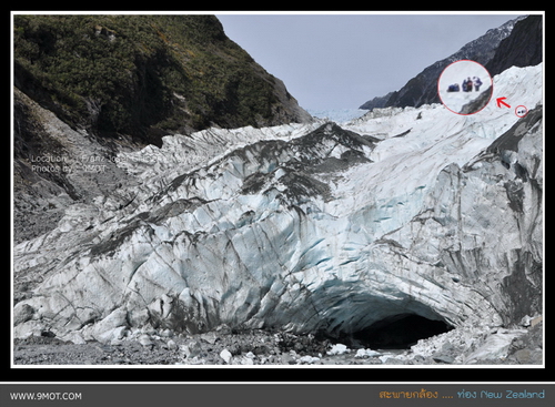
M 144 329 L 134 338 L 111 344 L 64 343 L 56 337 L 16 339 L 16 365 L 391 365 L 452 364 L 539 365 L 543 362 L 542 318 L 526 319 L 518 329 L 472 330 L 466 335 L 421 340 L 407 350 L 352 348 L 313 335 L 254 329 L 232 332 L 228 326 L 195 335 Z M 466 339 L 466 342 L 465 342 Z M 332 366 L 327 366 L 332 367 Z

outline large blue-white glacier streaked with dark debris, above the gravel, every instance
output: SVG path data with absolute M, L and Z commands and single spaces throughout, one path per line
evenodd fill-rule
M 542 64 L 492 101 L 168 135 L 121 153 L 138 180 L 13 248 L 41 281 L 14 337 L 111 343 L 145 326 L 329 336 L 414 314 L 509 326 L 542 312 Z M 464 328 L 466 327 L 466 328 Z

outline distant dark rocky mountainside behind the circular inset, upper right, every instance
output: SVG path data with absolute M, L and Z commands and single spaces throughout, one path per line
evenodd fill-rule
M 524 19 L 524 20 L 523 20 Z M 539 27 L 537 27 L 537 20 L 539 19 Z M 501 42 L 511 35 L 513 28 L 518 24 L 518 22 L 523 20 L 523 26 L 532 28 L 533 31 L 528 32 L 526 29 L 523 31 L 519 29 L 515 33 L 515 38 L 517 38 L 518 48 L 521 50 L 529 50 L 531 48 L 536 50 L 539 47 L 539 53 L 534 51 L 535 55 L 539 55 L 539 60 L 531 63 L 524 63 L 524 61 L 515 60 L 512 57 L 516 58 L 516 51 L 514 51 L 511 57 L 508 57 L 506 52 L 506 48 L 500 50 L 498 55 L 503 55 L 505 58 L 505 64 L 501 70 L 493 70 L 491 72 L 492 75 L 501 73 L 503 70 L 511 68 L 512 65 L 516 67 L 526 67 L 526 65 L 535 65 L 541 62 L 542 55 L 542 45 L 541 45 L 541 37 L 542 37 L 542 17 L 541 16 L 529 16 L 529 17 L 521 17 L 506 23 L 500 26 L 496 29 L 488 30 L 484 35 L 477 38 L 474 41 L 471 41 L 461 50 L 455 52 L 453 55 L 450 55 L 441 61 L 433 63 L 432 65 L 424 69 L 420 74 L 411 79 L 403 88 L 397 91 L 390 92 L 384 96 L 376 96 L 361 105 L 360 109 L 373 110 L 376 108 L 406 108 L 414 106 L 418 108 L 423 104 L 430 103 L 441 103 L 440 98 L 437 96 L 437 78 L 442 71 L 452 62 L 458 60 L 473 60 L 483 65 L 487 64 L 496 53 L 497 48 Z M 529 21 L 535 21 L 534 23 L 529 23 Z M 526 22 L 525 22 L 526 21 Z M 537 31 L 538 29 L 538 31 Z M 524 34 L 523 34 L 524 33 Z M 539 40 L 539 43 L 537 42 Z M 514 41 L 514 40 L 512 40 Z M 521 55 L 525 54 L 529 51 L 521 51 Z M 500 57 L 497 57 L 500 58 Z M 519 61 L 519 62 L 518 62 Z M 495 68 L 492 65 L 492 68 Z

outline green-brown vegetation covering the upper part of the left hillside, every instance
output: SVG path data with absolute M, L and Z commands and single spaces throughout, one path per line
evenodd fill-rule
M 97 135 L 258 125 L 274 78 L 213 16 L 14 16 L 14 81 Z

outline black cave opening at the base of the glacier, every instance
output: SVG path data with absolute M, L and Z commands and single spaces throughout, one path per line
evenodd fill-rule
M 444 320 L 434 320 L 416 314 L 398 314 L 379 320 L 371 326 L 345 335 L 344 340 L 353 348 L 407 349 L 418 339 L 428 338 L 453 329 Z

